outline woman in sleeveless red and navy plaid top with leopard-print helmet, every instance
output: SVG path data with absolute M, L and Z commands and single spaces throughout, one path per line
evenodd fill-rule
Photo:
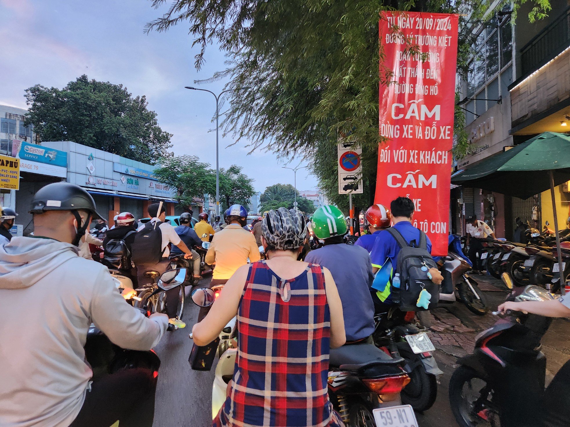
M 234 377 L 213 426 L 343 426 L 327 393 L 329 350 L 345 342 L 335 281 L 297 261 L 306 235 L 298 212 L 271 210 L 262 228 L 267 260 L 239 268 L 192 331 L 206 345 L 237 315 Z

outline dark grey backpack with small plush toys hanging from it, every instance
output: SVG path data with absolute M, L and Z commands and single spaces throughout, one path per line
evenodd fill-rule
M 439 285 L 427 277 L 427 270 L 437 268 L 437 264 L 427 252 L 425 233 L 420 230 L 420 244 L 416 246 L 415 240 L 409 245 L 394 227 L 388 228 L 388 232 L 394 236 L 400 246 L 396 266 L 396 272 L 400 274 L 400 289 L 392 286 L 390 289 L 392 301 L 398 303 L 402 311 L 424 311 L 425 307 L 418 307 L 417 302 L 421 291 L 425 289 L 431 295 L 428 310 L 433 309 L 439 301 Z

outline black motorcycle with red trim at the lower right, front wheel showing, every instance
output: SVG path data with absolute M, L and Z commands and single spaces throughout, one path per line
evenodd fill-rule
M 503 281 L 513 289 L 507 273 Z M 535 285 L 516 288 L 507 296 L 507 301 L 551 299 L 551 293 Z M 504 319 L 477 336 L 475 351 L 458 360 L 449 383 L 451 411 L 459 426 L 541 425 L 537 409 L 546 406 L 541 405 L 546 359 L 540 340 L 551 322 L 552 318 L 509 310 Z

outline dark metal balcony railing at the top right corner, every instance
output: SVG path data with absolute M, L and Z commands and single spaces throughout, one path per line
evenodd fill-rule
M 570 46 L 570 7 L 520 50 L 523 76 L 546 64 Z

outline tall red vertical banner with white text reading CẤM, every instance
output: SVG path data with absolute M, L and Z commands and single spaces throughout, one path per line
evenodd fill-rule
M 380 135 L 375 203 L 414 201 L 431 253 L 447 254 L 458 15 L 390 11 L 379 24 Z

